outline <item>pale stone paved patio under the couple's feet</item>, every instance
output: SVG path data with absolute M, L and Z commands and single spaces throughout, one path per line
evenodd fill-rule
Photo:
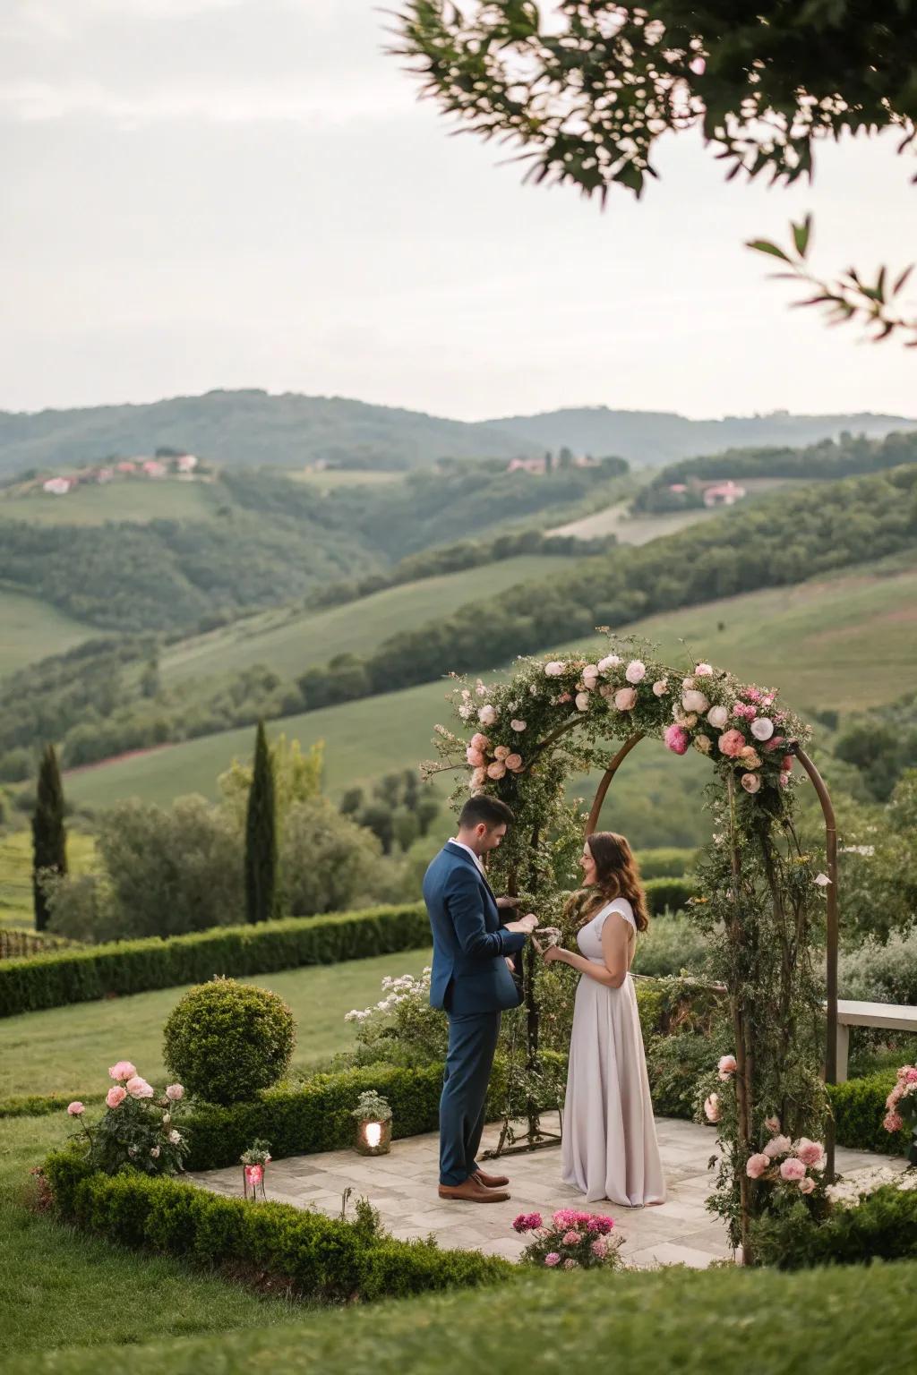
M 546 1129 L 555 1126 L 547 1116 Z M 694 1122 L 659 1118 L 659 1144 L 668 1181 L 668 1198 L 659 1207 L 627 1209 L 594 1203 L 610 1213 L 624 1236 L 623 1254 L 638 1266 L 683 1264 L 703 1269 L 730 1251 L 720 1222 L 704 1209 L 712 1174 L 707 1162 L 714 1154 L 711 1128 Z M 483 1150 L 496 1144 L 498 1128 L 484 1134 Z M 580 1207 L 583 1196 L 560 1181 L 560 1150 L 531 1155 L 510 1155 L 491 1165 L 510 1176 L 509 1203 L 444 1203 L 436 1192 L 439 1141 L 436 1136 L 414 1136 L 393 1141 L 389 1155 L 362 1156 L 355 1151 L 327 1151 L 274 1160 L 267 1173 L 267 1196 L 279 1203 L 313 1207 L 329 1216 L 340 1214 L 344 1191 L 353 1189 L 351 1206 L 366 1195 L 382 1214 L 388 1231 L 403 1240 L 436 1235 L 440 1246 L 461 1246 L 488 1255 L 516 1260 L 525 1239 L 511 1229 L 517 1213 L 550 1213 L 558 1207 Z M 877 1165 L 903 1169 L 899 1156 L 837 1151 L 837 1170 L 851 1176 Z M 208 1170 L 188 1178 L 216 1194 L 242 1194 L 242 1167 Z

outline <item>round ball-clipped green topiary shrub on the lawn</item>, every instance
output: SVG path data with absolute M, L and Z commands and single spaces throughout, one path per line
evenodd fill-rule
M 254 1097 L 285 1074 L 296 1022 L 276 993 L 213 979 L 175 1005 L 164 1035 L 165 1063 L 188 1093 L 230 1104 Z

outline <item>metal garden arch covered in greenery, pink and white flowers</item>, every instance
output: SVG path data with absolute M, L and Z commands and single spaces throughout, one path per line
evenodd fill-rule
M 516 815 L 491 857 L 492 880 L 533 906 L 557 912 L 569 890 L 583 830 L 598 826 L 608 788 L 623 759 L 643 738 L 675 755 L 698 751 L 714 767 L 708 789 L 714 836 L 698 865 L 692 920 L 711 938 L 711 975 L 723 986 L 734 1035 L 734 1070 L 720 1071 L 734 1092 L 711 1093 L 708 1116 L 723 1145 L 716 1210 L 734 1244 L 751 1257 L 751 1222 L 764 1192 L 747 1170 L 773 1122 L 795 1137 L 828 1129 L 826 1174 L 833 1140 L 822 1067 L 824 1004 L 811 949 L 828 949 L 825 1079 L 836 1077 L 837 852 L 830 799 L 804 745 L 810 730 L 778 701 L 778 693 L 742 683 L 700 663 L 663 666 L 648 649 L 609 642 L 595 661 L 582 654 L 522 659 L 507 682 L 485 686 L 455 678 L 450 694 L 459 722 L 436 726 L 439 762 L 429 774 L 459 770 L 454 793 L 506 802 Z M 616 752 L 608 741 L 623 741 Z M 799 770 L 815 786 L 826 828 L 825 869 L 797 830 Z M 571 778 L 602 769 L 588 818 L 568 802 Z M 824 932 L 824 935 L 822 935 Z M 538 1062 L 536 961 L 527 969 L 529 1068 Z M 727 1057 L 731 1062 L 733 1057 Z M 529 1148 L 540 1144 L 529 1103 Z M 759 1156 L 760 1158 L 760 1156 Z

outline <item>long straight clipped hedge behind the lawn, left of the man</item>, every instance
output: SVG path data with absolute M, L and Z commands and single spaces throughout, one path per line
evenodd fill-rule
M 118 940 L 59 954 L 0 962 L 0 1016 L 181 983 L 214 975 L 242 978 L 308 964 L 366 960 L 430 943 L 422 903 L 370 908 L 324 917 L 285 917 L 213 927 L 187 936 Z

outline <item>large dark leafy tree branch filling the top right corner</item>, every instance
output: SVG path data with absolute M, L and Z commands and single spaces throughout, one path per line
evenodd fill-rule
M 818 138 L 901 131 L 914 147 L 917 0 L 408 0 L 400 45 L 423 95 L 522 146 L 536 182 L 637 195 L 654 144 L 700 126 L 729 176 L 813 170 Z M 917 179 L 917 176 L 916 176 Z

